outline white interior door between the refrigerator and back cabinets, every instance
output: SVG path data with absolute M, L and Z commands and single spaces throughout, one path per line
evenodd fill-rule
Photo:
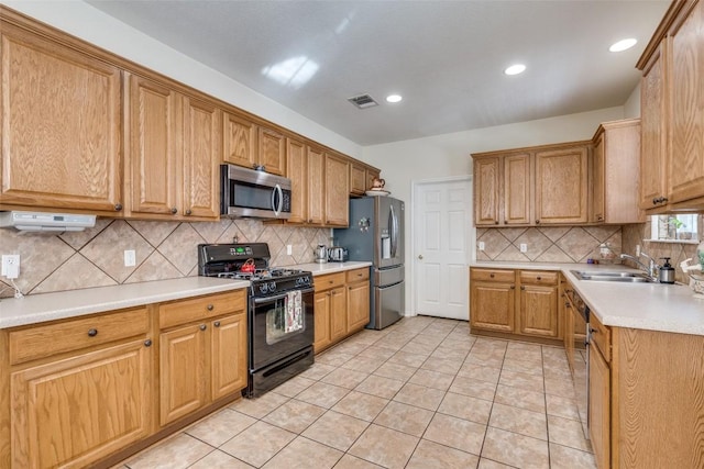
M 469 321 L 470 179 L 414 186 L 416 312 Z

